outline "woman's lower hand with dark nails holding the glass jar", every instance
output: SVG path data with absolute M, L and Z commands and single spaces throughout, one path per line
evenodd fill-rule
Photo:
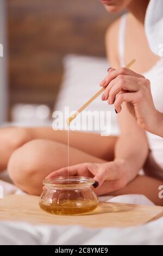
M 93 178 L 96 182 L 93 184 L 95 188 L 102 188 L 103 182 L 107 182 L 104 193 L 116 191 L 135 178 L 137 175 L 130 172 L 127 162 L 117 159 L 107 163 L 82 163 L 75 166 L 61 168 L 49 174 L 47 178 L 51 179 L 56 176 L 86 176 Z M 99 190 L 98 190 L 99 191 Z M 99 191 L 100 193 L 100 191 Z

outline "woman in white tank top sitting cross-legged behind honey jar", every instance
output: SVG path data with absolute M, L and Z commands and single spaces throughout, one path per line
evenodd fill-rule
M 121 135 L 101 137 L 70 131 L 70 175 L 94 177 L 98 195 L 140 193 L 163 205 L 158 197 L 163 184 L 163 90 L 159 72 L 163 60 L 150 50 L 145 34 L 149 1 L 101 2 L 109 13 L 128 9 L 106 32 L 106 50 L 113 68 L 101 82 L 106 88 L 102 100 L 114 104 Z M 133 58 L 137 60 L 134 71 L 121 68 Z M 39 195 L 45 176 L 67 175 L 66 131 L 11 127 L 1 129 L 0 141 L 0 168 L 8 166 L 11 179 L 22 190 Z M 147 175 L 139 176 L 144 165 Z

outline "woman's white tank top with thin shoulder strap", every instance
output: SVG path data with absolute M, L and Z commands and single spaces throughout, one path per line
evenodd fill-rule
M 118 40 L 118 51 L 121 66 L 125 66 L 124 61 L 124 44 L 126 35 L 126 20 L 127 14 L 121 17 L 119 40 Z M 163 113 L 163 58 L 160 58 L 158 62 L 153 66 L 152 69 L 143 73 L 146 78 L 151 81 L 151 92 L 153 101 L 156 109 Z M 163 131 L 163 127 L 162 127 Z M 163 138 L 153 135 L 150 132 L 147 133 L 149 148 L 152 150 L 155 161 L 163 170 Z

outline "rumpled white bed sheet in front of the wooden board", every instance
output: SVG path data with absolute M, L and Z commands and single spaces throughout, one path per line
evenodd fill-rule
M 162 222 L 125 229 L 0 222 L 0 245 L 163 245 Z

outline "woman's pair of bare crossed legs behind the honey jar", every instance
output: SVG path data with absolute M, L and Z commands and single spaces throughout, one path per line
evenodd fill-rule
M 3 133 L 3 136 L 2 136 Z M 39 195 L 42 191 L 42 180 L 49 173 L 67 166 L 67 133 L 54 132 L 49 127 L 35 129 L 9 128 L 0 130 L 0 168 L 7 167 L 11 179 L 22 190 L 29 194 Z M 72 132 L 70 135 L 70 165 L 83 162 L 111 161 L 114 158 L 115 137 L 103 138 L 99 135 Z M 93 142 L 93 143 L 92 143 Z M 2 147 L 3 145 L 3 147 Z M 163 205 L 159 199 L 159 186 L 162 180 L 149 176 L 137 176 L 118 194 L 145 194 L 155 204 Z M 107 194 L 108 181 L 104 182 L 96 193 Z

